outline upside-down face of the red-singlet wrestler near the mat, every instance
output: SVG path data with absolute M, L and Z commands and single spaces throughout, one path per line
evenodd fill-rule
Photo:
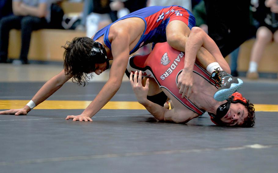
M 240 103 L 231 103 L 230 109 L 227 114 L 221 118 L 221 121 L 228 126 L 242 125 L 244 118 L 248 115 L 247 108 Z

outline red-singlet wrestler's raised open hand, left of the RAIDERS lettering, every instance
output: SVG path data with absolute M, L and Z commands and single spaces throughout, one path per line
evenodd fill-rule
M 142 71 L 139 72 L 138 81 L 137 81 L 137 73 L 138 73 L 137 71 L 134 73 L 134 77 L 132 80 L 133 73 L 131 72 L 129 76 L 129 81 L 138 102 L 144 105 L 144 103 L 148 102 L 147 94 L 149 90 L 149 79 L 147 79 L 146 85 L 142 86 Z

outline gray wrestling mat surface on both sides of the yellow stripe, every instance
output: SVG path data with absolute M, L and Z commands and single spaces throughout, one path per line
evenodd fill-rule
M 273 81 L 273 80 L 272 80 Z M 246 81 L 254 104 L 278 104 L 277 81 Z M 29 100 L 43 83 L 0 83 L 0 99 Z M 104 83 L 66 83 L 49 100 L 93 100 Z M 18 95 L 20 94 L 20 95 Z M 124 82 L 113 101 L 136 101 Z M 64 120 L 82 110 L 0 115 L 0 172 L 252 172 L 278 170 L 277 112 L 256 112 L 253 128 L 217 127 L 205 114 L 187 124 L 157 122 L 146 110 L 101 110 L 93 122 Z

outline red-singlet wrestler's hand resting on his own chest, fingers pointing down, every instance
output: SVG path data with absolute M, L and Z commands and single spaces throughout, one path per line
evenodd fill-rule
M 181 74 L 177 80 L 177 88 L 179 88 L 179 94 L 181 94 L 181 98 L 190 97 L 192 93 L 193 86 L 193 73 L 185 72 L 185 69 L 182 70 Z

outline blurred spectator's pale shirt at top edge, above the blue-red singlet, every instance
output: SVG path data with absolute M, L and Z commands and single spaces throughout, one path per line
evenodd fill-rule
M 169 6 L 169 5 L 179 5 L 189 11 L 192 11 L 191 0 L 148 0 L 148 6 Z

